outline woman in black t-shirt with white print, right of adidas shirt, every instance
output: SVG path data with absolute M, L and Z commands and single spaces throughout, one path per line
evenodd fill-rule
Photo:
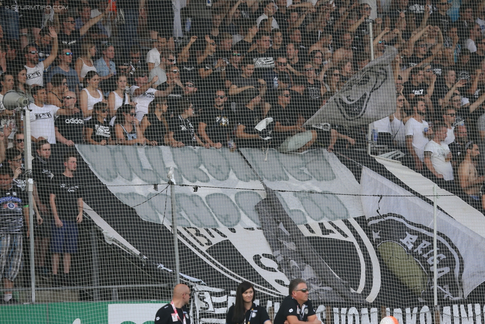
M 84 141 L 93 145 L 114 144 L 111 139 L 108 115 L 108 104 L 100 102 L 93 106 L 93 117 L 86 121 Z

